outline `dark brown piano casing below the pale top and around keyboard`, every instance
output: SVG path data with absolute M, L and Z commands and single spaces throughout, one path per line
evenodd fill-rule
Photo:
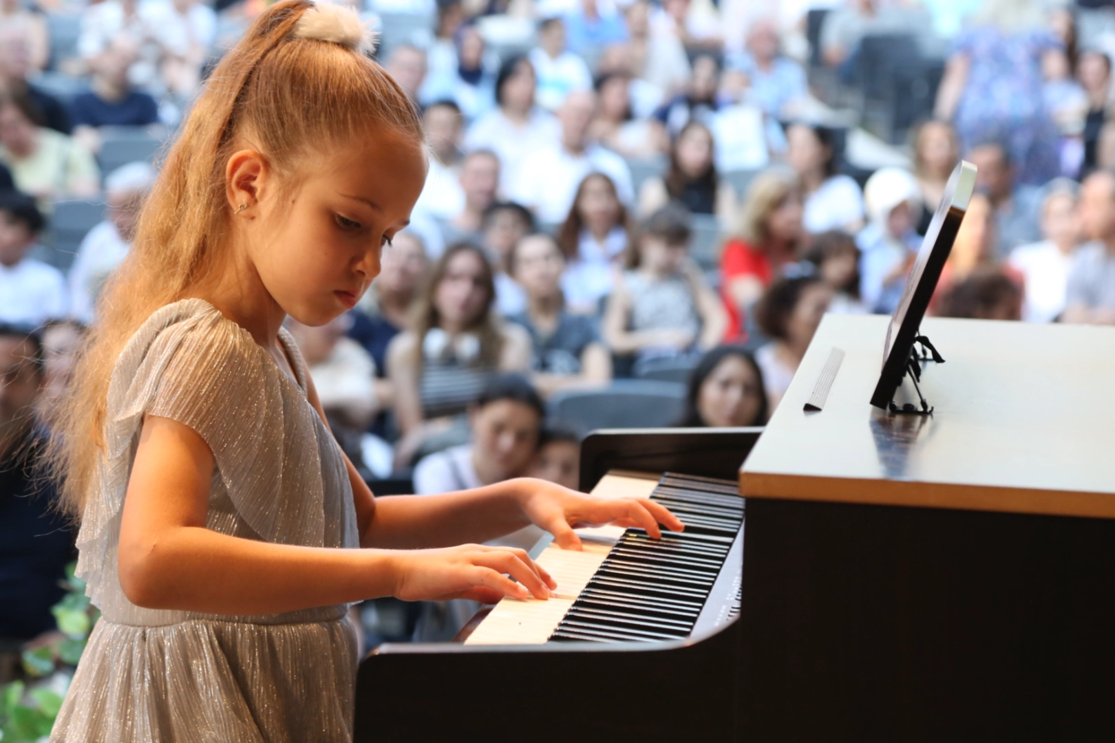
M 598 433 L 581 485 L 735 477 L 755 438 Z M 384 646 L 356 741 L 1115 739 L 1115 520 L 753 499 L 745 536 L 743 612 L 718 634 Z

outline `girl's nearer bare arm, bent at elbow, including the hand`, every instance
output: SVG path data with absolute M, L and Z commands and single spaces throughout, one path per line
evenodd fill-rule
M 530 589 L 544 598 L 555 585 L 523 550 L 331 549 L 217 534 L 205 527 L 213 466 L 209 446 L 193 429 L 145 417 L 117 558 L 120 587 L 132 603 L 256 615 L 379 596 L 493 602 L 524 597 Z

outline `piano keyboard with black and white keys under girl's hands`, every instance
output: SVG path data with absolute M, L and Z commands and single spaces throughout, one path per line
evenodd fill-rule
M 649 497 L 686 530 L 651 539 L 643 529 L 599 527 L 578 530 L 583 551 L 551 544 L 535 559 L 558 597 L 504 598 L 466 645 L 671 641 L 738 614 L 744 499 L 735 482 L 612 472 L 593 495 Z

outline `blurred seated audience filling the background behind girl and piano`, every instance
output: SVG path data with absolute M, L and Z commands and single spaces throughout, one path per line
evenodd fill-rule
M 960 158 L 931 312 L 1115 323 L 1112 0 L 355 4 L 429 174 L 361 304 L 290 330 L 377 493 L 575 487 L 595 428 L 764 424 L 825 312 L 894 310 Z M 0 637 L 49 628 L 69 559 L 20 557 L 49 524 L 20 443 L 263 7 L 0 0 Z M 370 642 L 414 633 L 388 608 Z

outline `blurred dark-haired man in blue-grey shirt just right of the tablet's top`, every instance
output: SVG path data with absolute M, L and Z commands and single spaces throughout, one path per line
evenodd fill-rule
M 996 254 L 1006 257 L 1019 245 L 1041 238 L 1038 229 L 1037 189 L 1015 185 L 1015 167 L 1010 155 L 998 141 L 986 141 L 972 147 L 966 158 L 975 165 L 976 186 L 987 193 L 995 215 Z

